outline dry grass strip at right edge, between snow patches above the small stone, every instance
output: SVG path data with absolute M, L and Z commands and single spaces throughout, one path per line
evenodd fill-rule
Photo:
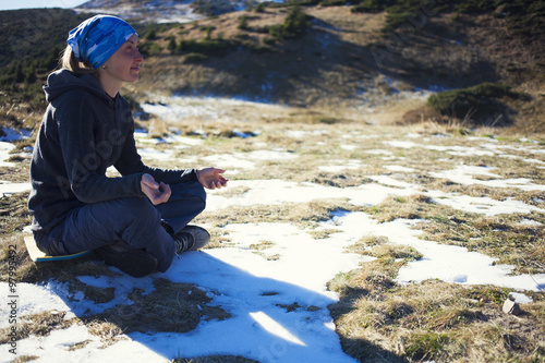
M 379 222 L 398 218 L 422 219 L 425 222 L 415 227 L 425 232 L 422 239 L 460 245 L 497 257 L 499 264 L 513 265 L 514 274 L 545 271 L 543 214 L 483 217 L 437 205 L 423 195 L 390 196 L 366 211 Z M 542 226 L 520 225 L 523 218 L 541 222 Z

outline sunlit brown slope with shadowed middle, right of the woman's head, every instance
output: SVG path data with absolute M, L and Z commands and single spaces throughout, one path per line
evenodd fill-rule
M 384 13 L 352 13 L 349 7 L 314 7 L 305 12 L 313 17 L 312 29 L 265 52 L 244 45 L 263 46 L 268 36 L 256 29 L 281 23 L 284 9 L 247 13 L 249 29 L 237 28 L 241 14 L 231 13 L 159 34 L 154 43 L 164 50 L 148 57 L 144 88 L 337 108 L 396 92 L 388 78 L 399 81 L 402 90 L 501 82 L 531 96 L 530 101 L 509 101 L 519 121 L 510 131 L 542 130 L 543 47 L 540 39 L 529 43 L 508 31 L 505 20 L 447 13 L 426 19 L 420 32 L 396 35 L 395 41 L 397 33 L 386 38 L 380 33 Z M 242 46 L 198 64 L 184 64 L 184 53 L 171 56 L 166 50 L 169 37 L 203 39 L 210 27 L 211 39 L 242 39 Z

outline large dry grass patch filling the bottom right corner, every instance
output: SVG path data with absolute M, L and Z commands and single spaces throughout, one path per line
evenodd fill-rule
M 377 261 L 328 286 L 341 294 L 329 310 L 347 353 L 365 362 L 543 359 L 542 295 L 524 305 L 521 318 L 501 313 L 507 289 L 434 280 L 400 286 L 392 280 L 402 265 L 393 262 L 398 251 L 383 242 L 373 249 L 380 247 Z

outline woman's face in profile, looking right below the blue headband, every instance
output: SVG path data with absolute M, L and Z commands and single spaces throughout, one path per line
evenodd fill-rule
M 138 36 L 133 34 L 105 62 L 106 69 L 100 76 L 111 77 L 111 81 L 136 82 L 143 60 L 144 57 L 138 51 Z

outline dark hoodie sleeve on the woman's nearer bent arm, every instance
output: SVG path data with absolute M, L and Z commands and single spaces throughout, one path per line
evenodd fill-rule
M 73 99 L 74 100 L 74 99 Z M 66 169 L 68 184 L 83 203 L 97 203 L 120 197 L 144 196 L 141 174 L 122 178 L 105 176 L 94 134 L 100 120 L 88 96 L 57 109 L 59 142 Z

